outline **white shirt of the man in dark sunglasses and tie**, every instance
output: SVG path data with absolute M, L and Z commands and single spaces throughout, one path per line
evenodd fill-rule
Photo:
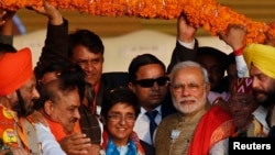
M 155 117 L 155 122 L 158 125 L 160 122 L 162 121 L 161 106 L 156 107 L 154 110 L 158 111 L 158 113 Z M 133 131 L 136 132 L 140 140 L 152 145 L 153 143 L 152 143 L 152 140 L 150 136 L 150 119 L 147 118 L 145 112 L 146 112 L 146 110 L 144 108 L 141 108 L 141 113 L 139 114 L 138 119 L 135 120 Z

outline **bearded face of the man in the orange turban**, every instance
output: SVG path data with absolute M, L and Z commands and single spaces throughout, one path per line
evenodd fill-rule
M 20 89 L 20 95 L 22 97 L 22 101 L 16 98 L 12 101 L 12 110 L 16 111 L 19 115 L 29 115 L 33 112 L 33 104 L 34 101 L 40 98 L 40 93 L 36 90 L 36 79 L 34 76 L 32 76 Z M 21 102 L 23 104 L 23 108 L 20 106 Z

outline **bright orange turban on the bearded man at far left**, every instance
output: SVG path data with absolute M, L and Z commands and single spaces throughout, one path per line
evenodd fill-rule
M 18 90 L 33 75 L 30 48 L 0 56 L 0 96 Z

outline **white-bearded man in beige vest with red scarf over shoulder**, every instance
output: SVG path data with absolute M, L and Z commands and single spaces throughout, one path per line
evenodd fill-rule
M 230 120 L 220 106 L 209 110 L 209 91 L 208 74 L 201 65 L 187 60 L 174 66 L 170 71 L 170 93 L 178 112 L 165 118 L 156 130 L 154 142 L 157 155 L 208 154 L 215 130 Z M 208 123 L 211 125 L 206 125 Z M 222 131 L 231 129 L 230 123 Z M 219 136 L 219 141 L 226 139 L 223 135 Z

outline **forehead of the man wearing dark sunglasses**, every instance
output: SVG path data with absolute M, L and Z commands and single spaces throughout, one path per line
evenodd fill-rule
M 160 64 L 148 64 L 141 66 L 136 71 L 138 79 L 141 78 L 156 78 L 165 75 L 165 70 Z

